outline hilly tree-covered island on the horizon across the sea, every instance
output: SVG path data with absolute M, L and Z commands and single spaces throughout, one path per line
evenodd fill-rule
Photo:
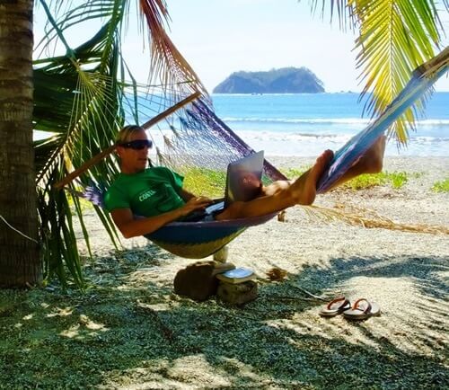
M 212 93 L 324 93 L 322 81 L 307 67 L 268 72 L 234 72 Z

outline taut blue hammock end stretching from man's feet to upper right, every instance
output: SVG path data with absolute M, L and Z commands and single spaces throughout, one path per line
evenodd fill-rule
M 397 120 L 411 105 L 426 93 L 439 77 L 449 70 L 449 47 L 443 50 L 436 58 L 419 66 L 413 72 L 409 83 L 394 99 L 383 113 L 366 129 L 352 137 L 348 143 L 341 147 L 334 155 L 330 167 L 321 176 L 317 185 L 317 192 L 322 193 L 331 187 L 334 182 L 348 171 L 348 169 L 365 154 L 375 141 L 383 135 L 392 123 Z

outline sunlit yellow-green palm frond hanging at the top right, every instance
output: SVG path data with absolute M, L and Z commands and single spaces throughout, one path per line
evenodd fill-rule
M 316 7 L 318 0 L 313 0 Z M 409 82 L 413 70 L 435 56 L 444 31 L 433 0 L 322 0 L 330 3 L 330 13 L 337 8 L 342 18 L 349 18 L 359 30 L 356 40 L 359 79 L 364 83 L 361 99 L 365 99 L 364 114 L 373 117 L 381 113 Z M 447 0 L 443 1 L 446 11 Z M 346 9 L 346 12 L 342 12 Z M 389 134 L 404 145 L 409 129 L 422 112 L 428 94 L 397 120 Z

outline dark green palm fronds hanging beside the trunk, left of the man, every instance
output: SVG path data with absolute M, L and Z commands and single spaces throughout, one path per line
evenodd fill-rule
M 110 35 L 110 23 L 106 23 L 91 40 L 67 50 L 66 56 L 36 61 L 39 67 L 34 70 L 35 129 L 53 134 L 35 143 L 40 235 L 47 243 L 47 277 L 57 274 L 63 284 L 66 268 L 77 285 L 82 286 L 83 279 L 69 202 L 66 193 L 53 190 L 53 185 L 74 166 L 109 146 L 124 120 L 116 79 L 119 50 L 117 40 L 110 40 Z M 110 181 L 114 173 L 117 165 L 112 160 L 92 169 L 82 182 L 99 177 Z M 72 186 L 75 189 L 75 184 Z M 73 204 L 90 250 L 79 201 L 74 199 Z M 112 226 L 109 216 L 101 218 Z M 109 231 L 115 243 L 115 231 Z

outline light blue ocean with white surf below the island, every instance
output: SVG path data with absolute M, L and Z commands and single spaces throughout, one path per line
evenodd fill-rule
M 370 122 L 358 93 L 213 94 L 216 114 L 266 155 L 315 156 L 337 150 Z M 449 93 L 434 93 L 407 146 L 386 155 L 449 156 Z

